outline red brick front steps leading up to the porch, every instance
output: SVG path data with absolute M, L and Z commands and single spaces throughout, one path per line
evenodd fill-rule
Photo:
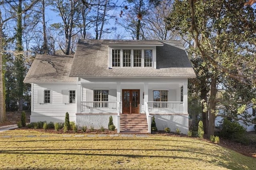
M 120 114 L 120 133 L 148 133 L 145 114 Z

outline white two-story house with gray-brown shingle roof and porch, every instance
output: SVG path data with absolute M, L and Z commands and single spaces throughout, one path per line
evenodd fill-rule
M 24 83 L 31 83 L 30 121 L 151 132 L 188 132 L 188 78 L 196 77 L 179 41 L 79 40 L 76 54 L 38 55 Z M 183 87 L 183 88 L 181 88 Z

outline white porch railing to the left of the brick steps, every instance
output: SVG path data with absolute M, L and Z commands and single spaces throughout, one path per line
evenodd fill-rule
M 82 101 L 82 113 L 118 113 L 119 105 L 116 101 Z

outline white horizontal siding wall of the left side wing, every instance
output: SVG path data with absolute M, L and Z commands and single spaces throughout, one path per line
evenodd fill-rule
M 70 115 L 70 121 L 76 121 L 76 103 L 69 104 L 64 102 L 62 93 L 68 90 L 76 89 L 76 84 L 71 83 L 38 83 L 32 84 L 32 99 L 33 99 L 33 111 L 31 112 L 31 122 L 35 121 L 54 121 L 62 122 L 65 120 L 66 112 Z M 38 94 L 45 90 L 49 89 L 51 91 L 51 103 L 41 103 L 38 101 L 38 98 L 41 99 L 41 95 Z M 68 95 L 65 93 L 65 95 Z M 43 97 L 43 95 L 42 95 Z M 67 100 L 68 101 L 68 100 Z M 41 103 L 41 104 L 40 104 Z M 66 103 L 66 104 L 65 104 Z M 50 119 L 49 119 L 50 117 Z

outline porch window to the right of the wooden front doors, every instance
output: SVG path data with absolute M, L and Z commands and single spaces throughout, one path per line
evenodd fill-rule
M 153 100 L 155 101 L 154 107 L 167 107 L 166 103 L 161 103 L 161 101 L 168 101 L 168 90 L 154 90 L 153 91 Z

